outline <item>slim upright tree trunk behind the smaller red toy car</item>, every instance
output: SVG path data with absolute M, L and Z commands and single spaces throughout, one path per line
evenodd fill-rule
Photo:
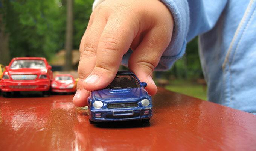
M 67 0 L 67 24 L 66 24 L 66 60 L 65 70 L 72 69 L 72 49 L 73 49 L 73 0 Z

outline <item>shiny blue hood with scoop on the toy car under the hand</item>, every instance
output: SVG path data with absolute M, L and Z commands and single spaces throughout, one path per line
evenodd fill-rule
M 96 100 L 111 102 L 111 101 L 132 101 L 137 100 L 148 95 L 145 89 L 139 88 L 114 88 L 114 89 L 102 89 L 93 91 L 92 97 Z

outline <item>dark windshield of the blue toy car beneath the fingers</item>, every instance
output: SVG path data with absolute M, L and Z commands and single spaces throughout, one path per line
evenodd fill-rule
M 105 89 L 138 87 L 140 85 L 133 75 L 117 75 Z

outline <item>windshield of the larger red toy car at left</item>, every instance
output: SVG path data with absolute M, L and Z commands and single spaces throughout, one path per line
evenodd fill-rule
M 10 68 L 11 69 L 20 69 L 20 68 L 45 69 L 46 65 L 43 60 L 14 60 Z

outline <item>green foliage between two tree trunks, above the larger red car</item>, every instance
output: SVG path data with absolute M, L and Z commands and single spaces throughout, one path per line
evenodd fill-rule
M 12 57 L 50 57 L 63 45 L 64 9 L 52 0 L 11 1 L 7 27 Z M 63 35 L 63 36 L 61 36 Z

